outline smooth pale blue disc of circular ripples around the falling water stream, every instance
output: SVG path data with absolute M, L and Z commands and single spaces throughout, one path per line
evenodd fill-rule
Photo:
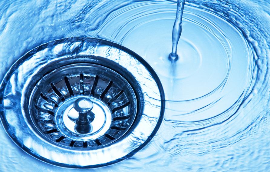
M 258 77 L 257 55 L 230 21 L 186 4 L 179 60 L 172 64 L 167 57 L 174 3 L 134 5 L 115 13 L 119 15 L 109 15 L 101 31 L 110 31 L 153 66 L 165 90 L 168 119 L 187 124 L 187 130 L 216 125 L 231 118 L 251 94 Z M 118 18 L 128 21 L 120 27 Z

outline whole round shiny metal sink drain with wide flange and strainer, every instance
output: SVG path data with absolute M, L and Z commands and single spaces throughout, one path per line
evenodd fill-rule
M 20 58 L 1 84 L 12 140 L 50 164 L 94 168 L 124 160 L 154 136 L 164 93 L 137 54 L 95 38 L 64 38 Z

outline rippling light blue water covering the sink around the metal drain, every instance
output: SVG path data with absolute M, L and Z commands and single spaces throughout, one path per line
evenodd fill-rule
M 159 75 L 166 111 L 156 136 L 93 171 L 268 171 L 268 0 L 186 1 L 173 72 L 176 1 L 3 0 L 0 14 L 0 78 L 27 51 L 74 36 L 124 45 Z M 2 171 L 63 170 L 25 154 L 3 127 L 0 134 Z

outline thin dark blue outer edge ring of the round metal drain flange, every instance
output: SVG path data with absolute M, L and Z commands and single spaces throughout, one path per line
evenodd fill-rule
M 75 40 L 75 41 L 74 41 Z M 107 46 L 111 46 L 112 48 L 114 49 L 118 49 L 118 50 L 121 50 L 123 51 L 124 53 L 126 54 L 129 54 L 132 56 L 132 58 L 134 58 L 135 61 L 139 61 L 140 62 L 140 65 L 143 66 L 148 72 L 149 74 L 151 75 L 151 77 L 153 78 L 153 81 L 155 82 L 156 84 L 156 87 L 159 91 L 159 96 L 160 96 L 160 111 L 159 111 L 159 114 L 157 116 L 157 120 L 156 120 L 156 125 L 153 127 L 153 130 L 151 130 L 150 132 L 150 135 L 147 136 L 146 139 L 143 140 L 143 143 L 141 143 L 139 146 L 136 146 L 136 148 L 134 148 L 133 150 L 129 151 L 129 153 L 125 154 L 123 157 L 122 155 L 120 155 L 121 157 L 117 157 L 116 159 L 113 159 L 113 160 L 108 160 L 107 162 L 102 162 L 100 164 L 91 164 L 91 165 L 84 165 L 84 164 L 79 164 L 79 165 L 75 165 L 75 164 L 67 164 L 67 163 L 61 163 L 61 162 L 56 162 L 54 160 L 51 160 L 51 159 L 48 159 L 48 158 L 45 158 L 45 157 L 42 157 L 40 156 L 39 154 L 36 154 L 35 152 L 33 152 L 30 148 L 29 148 L 29 145 L 28 147 L 25 146 L 24 144 L 22 144 L 18 138 L 12 133 L 12 130 L 10 129 L 9 127 L 9 124 L 8 124 L 8 121 L 6 121 L 6 118 L 5 118 L 5 111 L 2 110 L 0 112 L 0 118 L 1 118 L 1 122 L 2 122 L 2 125 L 4 126 L 5 128 L 5 131 L 7 132 L 7 134 L 9 135 L 9 137 L 11 137 L 11 139 L 23 150 L 25 151 L 26 153 L 30 154 L 31 156 L 39 159 L 39 160 L 42 160 L 46 163 L 49 163 L 49 164 L 53 164 L 53 165 L 57 165 L 57 166 L 61 166 L 61 167 L 67 167 L 67 168 L 96 168 L 96 167 L 102 167 L 102 166 L 107 166 L 107 165 L 110 165 L 110 164 L 115 164 L 117 162 L 120 162 L 128 157 L 131 157 L 133 156 L 137 151 L 139 151 L 140 149 L 142 149 L 146 144 L 149 143 L 149 141 L 153 138 L 153 136 L 156 134 L 158 128 L 160 127 L 160 124 L 163 120 L 163 115 L 164 115 L 164 110 L 165 110 L 165 95 L 164 95 L 164 91 L 163 91 L 163 87 L 162 87 L 162 84 L 160 82 L 160 79 L 158 78 L 157 74 L 155 73 L 155 71 L 153 70 L 153 68 L 151 68 L 151 66 L 143 59 L 141 58 L 139 55 L 137 55 L 135 52 L 129 50 L 128 48 L 125 48 L 121 45 L 118 45 L 116 43 L 113 43 L 111 41 L 107 41 L 107 40 L 102 40 L 102 39 L 96 39 L 96 38 L 89 38 L 89 37 L 74 37 L 74 38 L 63 38 L 63 39 L 59 39 L 59 40 L 54 40 L 54 41 L 50 41 L 48 43 L 45 43 L 45 44 L 42 44 L 40 46 L 38 46 L 37 48 L 29 51 L 28 53 L 26 53 L 24 56 L 22 56 L 18 61 L 15 62 L 15 64 L 9 69 L 9 71 L 6 73 L 2 83 L 1 83 L 1 86 L 0 86 L 0 97 L 2 99 L 1 101 L 1 105 L 4 107 L 4 103 L 3 103 L 3 97 L 4 97 L 4 91 L 7 87 L 7 83 L 8 83 L 8 80 L 11 78 L 12 74 L 13 74 L 13 70 L 16 69 L 17 70 L 17 67 L 24 61 L 28 60 L 29 58 L 31 58 L 31 55 L 35 52 L 38 52 L 38 51 L 42 51 L 45 47 L 48 48 L 48 45 L 57 45 L 57 44 L 60 44 L 60 43 L 63 43 L 63 42 L 76 42 L 76 41 L 89 41 L 89 42 L 94 42 L 96 44 L 102 44 L 102 45 L 107 45 Z M 72 54 L 70 55 L 72 56 Z M 77 57 L 76 57 L 77 58 Z M 104 58 L 104 57 L 103 57 Z M 107 58 L 107 57 L 106 57 Z M 20 97 L 20 100 L 21 98 L 23 99 L 23 95 L 21 95 L 22 97 Z M 24 113 L 24 112 L 22 112 Z M 24 114 L 22 114 L 24 115 Z M 30 129 L 31 129 L 31 126 L 28 126 Z M 126 139 L 126 136 L 125 138 L 123 139 Z M 121 141 L 123 141 L 123 139 L 121 139 Z M 46 143 L 47 144 L 47 143 Z M 39 145 L 38 145 L 39 146 Z M 119 142 L 117 142 L 117 145 L 115 146 L 119 146 Z M 109 147 L 110 148 L 110 147 Z M 108 149 L 108 148 L 107 148 Z M 64 148 L 61 148 L 59 150 L 62 150 L 62 151 L 65 151 Z M 58 151 L 59 151 L 58 150 Z M 105 150 L 106 151 L 106 150 Z M 82 153 L 84 153 L 83 151 L 81 151 Z M 79 152 L 77 152 L 79 153 Z

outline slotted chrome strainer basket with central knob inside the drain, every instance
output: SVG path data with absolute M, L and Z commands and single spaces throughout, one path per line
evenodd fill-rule
M 137 114 L 137 99 L 130 84 L 115 71 L 72 64 L 41 78 L 29 107 L 33 123 L 48 140 L 95 148 L 128 131 Z

